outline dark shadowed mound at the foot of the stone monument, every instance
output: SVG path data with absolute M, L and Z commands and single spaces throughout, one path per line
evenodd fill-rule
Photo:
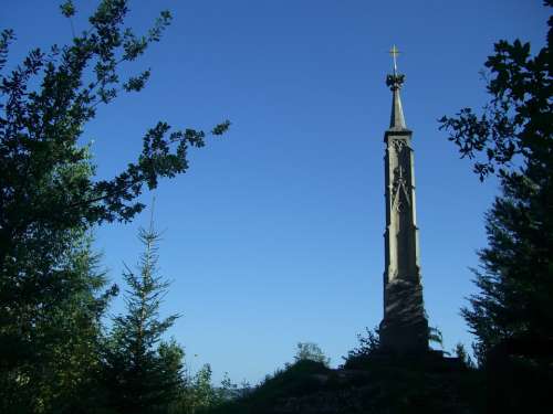
M 341 369 L 299 361 L 209 414 L 480 413 L 483 381 L 440 355 L 372 355 Z

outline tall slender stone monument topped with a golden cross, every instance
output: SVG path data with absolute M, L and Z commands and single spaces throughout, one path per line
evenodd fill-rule
M 401 107 L 399 91 L 405 75 L 397 72 L 396 46 L 390 54 L 394 72 L 387 76 L 386 85 L 392 91 L 392 116 L 384 132 L 386 231 L 380 347 L 398 353 L 426 352 L 428 320 L 420 283 L 413 131 L 405 124 Z

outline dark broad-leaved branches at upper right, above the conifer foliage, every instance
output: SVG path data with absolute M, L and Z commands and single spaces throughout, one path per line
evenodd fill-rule
M 474 172 L 480 180 L 490 173 L 502 174 L 518 156 L 533 158 L 553 139 L 550 59 L 547 47 L 531 56 L 529 43 L 498 42 L 495 54 L 486 62 L 491 71 L 487 88 L 492 98 L 482 115 L 466 108 L 456 117 L 439 119 L 440 129 L 449 132 L 448 139 L 457 145 L 461 158 L 476 159 Z M 480 153 L 486 158 L 478 159 Z

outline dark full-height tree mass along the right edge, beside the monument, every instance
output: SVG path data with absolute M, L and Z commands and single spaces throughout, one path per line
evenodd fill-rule
M 552 1 L 545 2 L 553 6 Z M 502 194 L 488 212 L 489 246 L 479 253 L 480 293 L 462 315 L 478 337 L 479 357 L 495 346 L 526 358 L 553 346 L 553 135 L 551 45 L 535 55 L 519 40 L 495 43 L 486 66 L 490 103 L 478 117 L 462 109 L 441 119 L 461 157 L 479 155 L 474 171 L 499 177 Z

